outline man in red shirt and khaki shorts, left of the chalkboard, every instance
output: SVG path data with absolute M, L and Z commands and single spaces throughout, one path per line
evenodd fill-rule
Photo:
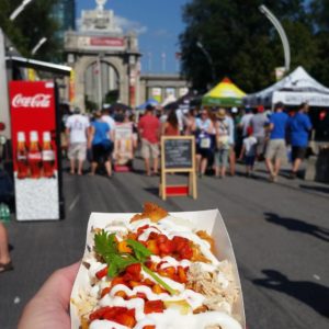
M 146 106 L 146 113 L 138 123 L 138 132 L 141 138 L 141 156 L 145 161 L 146 175 L 157 175 L 159 164 L 159 137 L 160 121 L 154 114 L 152 105 Z M 154 171 L 150 168 L 150 157 L 154 161 Z

